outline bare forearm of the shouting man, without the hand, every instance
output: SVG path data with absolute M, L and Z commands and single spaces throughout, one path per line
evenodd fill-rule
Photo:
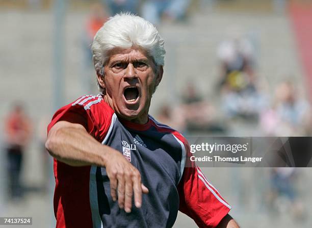
M 67 121 L 50 129 L 45 147 L 51 156 L 71 166 L 106 166 L 108 153 L 114 150 L 96 141 L 83 125 Z

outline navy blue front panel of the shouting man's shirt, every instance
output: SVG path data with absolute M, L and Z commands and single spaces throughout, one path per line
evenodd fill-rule
M 112 121 L 103 144 L 120 151 L 139 170 L 149 193 L 143 194 L 140 209 L 133 202 L 132 212 L 127 214 L 111 198 L 106 169 L 96 167 L 98 213 L 103 227 L 171 227 L 179 207 L 177 185 L 184 168 L 183 144 L 154 126 L 135 131 L 125 128 L 116 116 Z

